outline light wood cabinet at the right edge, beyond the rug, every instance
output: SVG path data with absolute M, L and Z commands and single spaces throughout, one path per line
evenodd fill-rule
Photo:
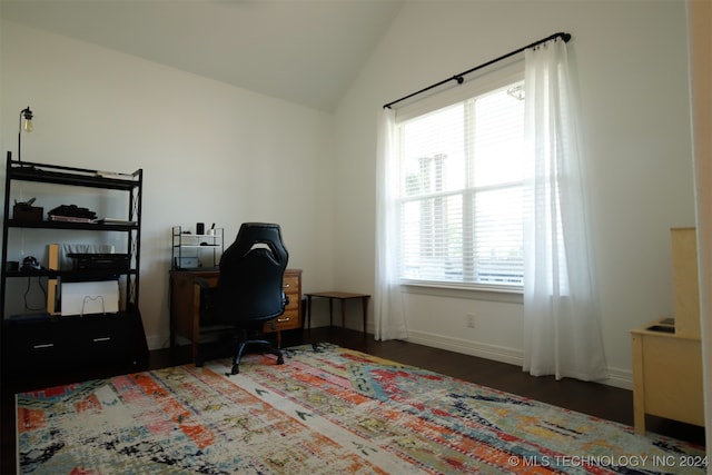
M 653 321 L 631 331 L 637 434 L 645 434 L 645 414 L 704 426 L 700 338 L 675 335 L 670 329 L 664 323 Z

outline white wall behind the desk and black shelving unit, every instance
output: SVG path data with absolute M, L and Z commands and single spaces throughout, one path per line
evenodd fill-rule
M 333 117 L 17 23 L 1 27 L 2 156 L 17 158 L 19 112 L 29 105 L 34 132 L 23 137 L 23 161 L 144 169 L 140 309 L 151 348 L 168 342 L 175 225 L 215 221 L 231 243 L 243 221 L 279 222 L 305 289 L 332 286 Z

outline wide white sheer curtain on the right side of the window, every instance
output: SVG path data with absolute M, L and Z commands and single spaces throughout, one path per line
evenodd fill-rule
M 524 370 L 606 376 L 566 43 L 525 51 Z

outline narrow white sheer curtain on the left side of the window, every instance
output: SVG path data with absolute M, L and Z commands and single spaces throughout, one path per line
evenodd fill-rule
M 376 164 L 376 290 L 374 320 L 376 339 L 407 338 L 398 275 L 398 216 L 392 194 L 398 189 L 395 159 L 395 111 L 384 109 L 378 125 Z

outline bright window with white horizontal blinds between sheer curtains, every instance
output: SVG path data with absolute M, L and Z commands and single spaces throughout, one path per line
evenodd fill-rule
M 523 86 L 396 119 L 404 281 L 523 285 Z

